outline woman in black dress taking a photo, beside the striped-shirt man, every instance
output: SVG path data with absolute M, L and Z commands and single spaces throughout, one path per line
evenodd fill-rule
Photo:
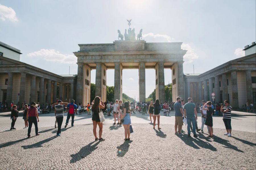
M 205 108 L 205 106 L 207 106 L 207 108 Z M 212 128 L 212 114 L 213 114 L 213 109 L 212 109 L 212 102 L 211 101 L 207 101 L 207 103 L 205 103 L 205 105 L 203 106 L 203 110 L 207 110 L 207 115 L 206 115 L 206 121 L 205 121 L 205 125 L 207 125 L 208 129 L 209 129 L 209 136 L 207 137 L 212 137 L 212 133 L 213 133 L 213 128 Z

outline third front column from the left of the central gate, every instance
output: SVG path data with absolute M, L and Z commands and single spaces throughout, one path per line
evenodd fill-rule
M 115 80 L 114 80 L 114 99 L 123 99 L 123 90 L 122 90 L 122 69 L 123 66 L 121 63 L 115 63 Z

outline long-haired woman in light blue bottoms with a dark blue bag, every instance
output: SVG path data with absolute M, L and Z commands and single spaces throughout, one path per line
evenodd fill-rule
M 130 124 L 131 124 L 131 110 L 129 108 L 129 102 L 124 102 L 123 107 L 123 115 L 121 116 L 123 119 L 123 127 L 125 129 L 125 141 L 130 140 Z M 127 137 L 128 136 L 128 137 Z

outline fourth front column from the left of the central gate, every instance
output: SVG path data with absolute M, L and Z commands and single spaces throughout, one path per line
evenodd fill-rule
M 145 63 L 139 63 L 139 101 L 146 101 Z

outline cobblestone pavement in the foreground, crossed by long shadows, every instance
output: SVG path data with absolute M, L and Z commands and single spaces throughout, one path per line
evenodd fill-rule
M 213 138 L 194 138 L 174 135 L 171 124 L 132 126 L 131 141 L 110 123 L 102 142 L 94 141 L 92 124 L 63 127 L 60 137 L 52 127 L 41 127 L 39 136 L 32 129 L 29 139 L 27 129 L 3 131 L 0 169 L 255 169 L 256 133 L 232 130 L 227 137 L 214 128 Z

